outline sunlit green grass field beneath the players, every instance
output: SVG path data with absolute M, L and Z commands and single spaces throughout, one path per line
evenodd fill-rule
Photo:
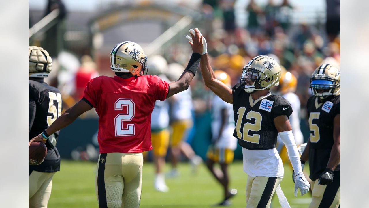
M 308 170 L 308 167 L 306 167 Z M 169 170 L 169 166 L 166 167 Z M 203 208 L 220 202 L 222 190 L 215 183 L 212 175 L 204 165 L 200 166 L 196 175 L 193 175 L 189 164 L 179 166 L 180 176 L 167 178 L 170 188 L 168 193 L 154 190 L 154 165 L 144 163 L 142 176 L 141 208 Z M 236 161 L 230 165 L 230 188 L 238 190 L 232 199 L 231 207 L 245 207 L 245 186 L 247 175 L 242 171 L 242 162 Z M 61 171 L 54 175 L 52 193 L 49 200 L 50 208 L 97 208 L 94 180 L 96 163 L 85 161 L 67 161 L 61 163 Z M 311 200 L 310 194 L 295 198 L 292 169 L 284 166 L 284 179 L 281 187 L 292 208 L 306 208 Z M 300 195 L 300 192 L 299 194 Z M 275 194 L 272 208 L 281 207 Z

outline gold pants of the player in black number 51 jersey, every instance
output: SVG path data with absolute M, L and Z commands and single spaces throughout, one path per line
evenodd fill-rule
M 32 171 L 29 175 L 28 206 L 46 208 L 51 195 L 52 177 L 55 172 Z

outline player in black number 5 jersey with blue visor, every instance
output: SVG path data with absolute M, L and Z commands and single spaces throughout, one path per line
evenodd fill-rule
M 331 64 L 316 68 L 307 101 L 310 138 L 301 155 L 309 160 L 313 199 L 309 208 L 339 207 L 340 204 L 340 71 Z

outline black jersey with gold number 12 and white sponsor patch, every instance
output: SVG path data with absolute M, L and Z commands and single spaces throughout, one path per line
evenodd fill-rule
M 278 131 L 274 118 L 292 114 L 290 103 L 279 95 L 269 94 L 255 102 L 250 93 L 236 84 L 233 88 L 233 113 L 236 128 L 233 136 L 248 150 L 269 150 L 276 147 Z

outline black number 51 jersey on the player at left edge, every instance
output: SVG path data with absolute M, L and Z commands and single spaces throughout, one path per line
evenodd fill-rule
M 29 135 L 28 140 L 48 128 L 62 113 L 60 91 L 44 82 L 29 80 Z M 60 155 L 55 147 L 58 133 L 46 141 L 47 155 L 39 165 L 30 165 L 29 169 L 39 172 L 60 170 Z

